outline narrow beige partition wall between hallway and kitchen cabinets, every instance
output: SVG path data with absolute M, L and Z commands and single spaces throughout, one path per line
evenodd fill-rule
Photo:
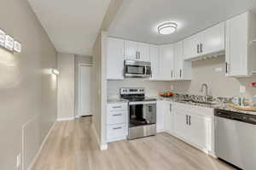
M 106 111 L 107 111 L 107 68 L 106 45 L 107 33 L 102 31 L 96 39 L 93 48 L 93 73 L 92 87 L 95 98 L 93 99 L 93 125 L 96 128 L 97 138 L 101 145 L 106 144 Z

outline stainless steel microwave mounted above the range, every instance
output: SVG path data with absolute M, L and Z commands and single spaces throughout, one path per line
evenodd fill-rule
M 125 77 L 151 77 L 151 63 L 137 60 L 125 60 Z

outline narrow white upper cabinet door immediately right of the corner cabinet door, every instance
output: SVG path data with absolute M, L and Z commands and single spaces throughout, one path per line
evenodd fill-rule
M 183 42 L 174 44 L 174 78 L 183 78 Z

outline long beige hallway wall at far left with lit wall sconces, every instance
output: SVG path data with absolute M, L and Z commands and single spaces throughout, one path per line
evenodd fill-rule
M 26 1 L 2 0 L 0 27 L 22 43 L 21 54 L 0 48 L 0 169 L 16 168 L 26 122 L 25 161 L 33 154 L 56 118 L 55 48 Z M 31 125 L 29 125 L 32 123 Z M 28 126 L 29 125 L 29 126 Z M 26 167 L 28 165 L 26 164 Z

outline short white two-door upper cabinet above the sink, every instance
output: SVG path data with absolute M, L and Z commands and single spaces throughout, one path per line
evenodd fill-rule
M 183 40 L 184 59 L 224 53 L 224 22 Z

